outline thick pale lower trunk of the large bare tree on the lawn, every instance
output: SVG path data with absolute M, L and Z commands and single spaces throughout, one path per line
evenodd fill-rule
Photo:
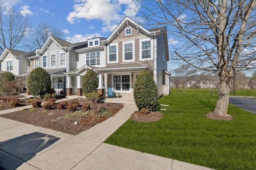
M 230 79 L 226 80 L 224 76 L 220 77 L 220 86 L 218 89 L 218 100 L 214 109 L 215 113 L 221 116 L 227 116 L 228 114 L 228 101 L 230 93 Z

